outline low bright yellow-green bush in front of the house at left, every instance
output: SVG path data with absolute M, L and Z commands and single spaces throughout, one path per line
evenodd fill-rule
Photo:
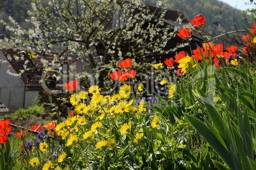
M 45 112 L 45 108 L 43 107 L 43 104 L 34 105 L 26 109 L 19 108 L 18 110 L 16 110 L 16 112 L 14 112 L 12 117 L 14 120 L 24 120 L 24 119 L 27 119 L 28 117 L 31 117 L 32 115 L 39 117 L 43 112 Z

